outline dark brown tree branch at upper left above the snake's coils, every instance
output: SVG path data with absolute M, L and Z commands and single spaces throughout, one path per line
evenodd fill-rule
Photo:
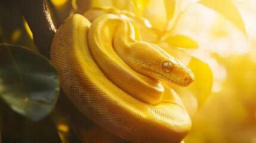
M 46 0 L 16 0 L 33 33 L 33 41 L 40 54 L 50 58 L 51 41 L 56 32 Z

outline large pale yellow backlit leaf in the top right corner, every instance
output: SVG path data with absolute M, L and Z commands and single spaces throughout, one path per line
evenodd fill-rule
M 246 35 L 245 25 L 243 19 L 239 14 L 238 9 L 233 5 L 230 0 L 201 0 L 199 4 L 205 5 L 205 7 L 211 8 L 212 10 L 220 13 L 228 20 L 230 20 L 236 27 L 242 30 Z

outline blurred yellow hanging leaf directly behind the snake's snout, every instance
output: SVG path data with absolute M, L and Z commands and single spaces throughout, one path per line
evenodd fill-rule
M 189 85 L 189 89 L 197 98 L 198 106 L 200 107 L 208 98 L 209 94 L 211 94 L 213 82 L 212 71 L 208 64 L 203 63 L 203 61 L 195 57 L 192 57 L 187 67 L 195 75 L 195 80 Z

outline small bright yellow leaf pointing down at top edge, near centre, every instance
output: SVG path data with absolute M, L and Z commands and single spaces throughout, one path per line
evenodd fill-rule
M 132 8 L 135 11 L 135 14 L 140 17 L 141 16 L 141 11 L 144 10 L 144 8 L 147 7 L 149 4 L 150 0 L 130 0 Z

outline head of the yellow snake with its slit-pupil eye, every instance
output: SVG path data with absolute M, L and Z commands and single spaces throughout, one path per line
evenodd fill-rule
M 192 71 L 159 46 L 146 42 L 132 46 L 133 60 L 129 66 L 138 73 L 174 86 L 188 86 L 193 82 Z

